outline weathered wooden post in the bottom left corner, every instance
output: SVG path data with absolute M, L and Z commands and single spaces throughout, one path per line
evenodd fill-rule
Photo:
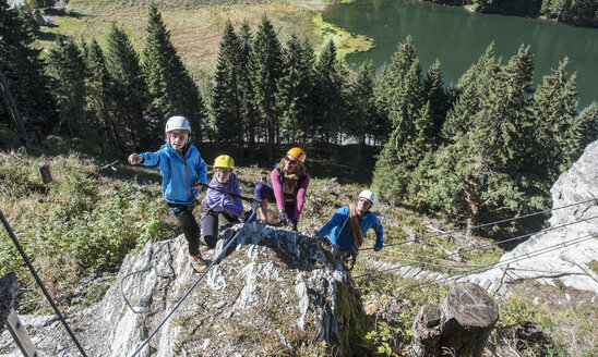
M 35 357 L 37 356 L 37 353 L 35 352 L 32 340 L 27 335 L 27 331 L 23 327 L 23 323 L 19 320 L 16 311 L 14 311 L 16 292 L 17 285 L 14 273 L 10 273 L 0 279 L 0 331 L 2 331 L 5 325 L 23 356 Z

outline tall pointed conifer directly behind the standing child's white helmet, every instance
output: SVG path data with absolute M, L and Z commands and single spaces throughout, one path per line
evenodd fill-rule
M 142 67 L 150 93 L 148 128 L 159 140 L 164 121 L 170 115 L 183 115 L 191 122 L 193 136 L 202 140 L 202 122 L 206 111 L 198 86 L 170 41 L 162 15 L 155 4 L 150 5 L 147 37 L 143 49 Z

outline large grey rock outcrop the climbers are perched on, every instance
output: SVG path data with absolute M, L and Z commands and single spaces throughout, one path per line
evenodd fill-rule
M 224 260 L 137 356 L 355 354 L 366 316 L 327 241 L 238 224 L 220 234 L 206 258 L 215 258 L 237 233 Z M 201 275 L 191 269 L 183 242 L 180 236 L 148 243 L 127 256 L 105 298 L 70 319 L 89 356 L 130 356 L 196 283 Z M 132 308 L 121 296 L 121 281 Z M 22 317 L 25 324 L 27 319 Z M 40 356 L 79 355 L 58 322 L 35 319 L 33 342 Z M 0 348 L 11 349 L 4 335 L 2 341 Z

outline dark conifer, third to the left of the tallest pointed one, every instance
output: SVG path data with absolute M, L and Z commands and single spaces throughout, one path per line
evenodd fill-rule
M 59 38 L 48 51 L 48 74 L 60 112 L 59 131 L 71 136 L 93 132 L 85 116 L 85 61 L 72 39 Z

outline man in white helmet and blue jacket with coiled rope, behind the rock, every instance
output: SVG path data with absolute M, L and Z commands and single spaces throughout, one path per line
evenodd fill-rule
M 380 251 L 384 244 L 382 224 L 380 224 L 378 217 L 370 211 L 373 200 L 374 195 L 371 190 L 362 190 L 359 194 L 357 206 L 350 204 L 342 207 L 332 220 L 316 233 L 316 236 L 320 237 L 327 236 L 328 241 L 336 245 L 344 262 L 352 258 L 349 269 L 355 264 L 355 258 L 359 247 L 363 244 L 363 236 L 368 230 L 373 229 L 375 232 L 374 251 Z

